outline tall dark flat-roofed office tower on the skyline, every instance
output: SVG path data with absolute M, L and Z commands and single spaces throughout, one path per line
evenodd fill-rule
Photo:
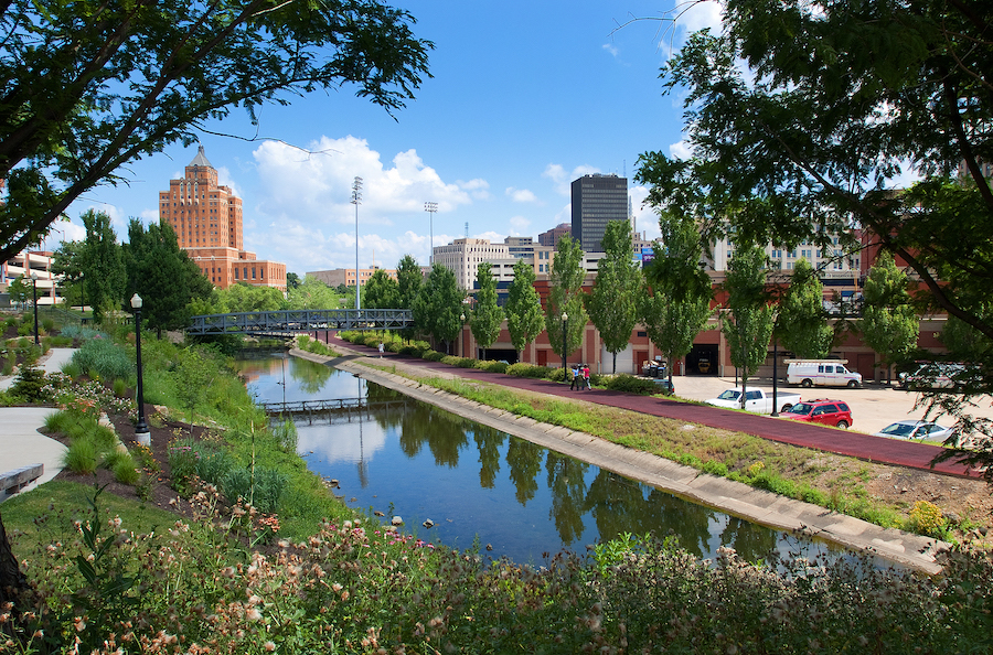
M 573 239 L 586 253 L 601 253 L 600 241 L 611 221 L 628 216 L 628 179 L 617 175 L 583 175 L 573 181 Z

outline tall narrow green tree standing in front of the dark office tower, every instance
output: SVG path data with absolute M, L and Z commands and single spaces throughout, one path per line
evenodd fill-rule
M 638 297 L 641 293 L 641 269 L 634 261 L 631 224 L 611 221 L 604 232 L 604 253 L 597 266 L 597 279 L 586 298 L 586 309 L 592 324 L 600 332 L 604 346 L 613 355 L 631 343 L 631 331 L 638 321 Z

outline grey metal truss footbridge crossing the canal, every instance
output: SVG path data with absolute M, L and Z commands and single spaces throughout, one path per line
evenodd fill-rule
M 410 310 L 282 310 L 192 316 L 186 334 L 291 336 L 319 330 L 401 330 L 414 326 Z

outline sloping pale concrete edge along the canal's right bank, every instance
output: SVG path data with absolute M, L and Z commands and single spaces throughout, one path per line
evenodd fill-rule
M 343 350 L 335 344 L 338 350 Z M 682 464 L 643 451 L 611 443 L 599 437 L 575 432 L 560 426 L 542 423 L 502 409 L 468 400 L 395 375 L 374 366 L 383 363 L 350 352 L 346 357 L 325 357 L 293 348 L 290 355 L 330 364 L 366 380 L 401 391 L 417 400 L 484 426 L 525 439 L 583 462 L 624 475 L 693 503 L 783 531 L 800 531 L 851 550 L 876 554 L 905 567 L 935 575 L 941 567 L 935 554 L 948 544 L 828 511 L 818 505 L 794 501 L 757 490 L 747 484 L 701 473 Z M 356 359 L 367 359 L 369 366 Z M 389 365 L 403 367 L 402 362 Z M 412 369 L 412 373 L 415 371 Z M 416 372 L 423 375 L 421 372 Z M 452 376 L 455 377 L 455 376 Z

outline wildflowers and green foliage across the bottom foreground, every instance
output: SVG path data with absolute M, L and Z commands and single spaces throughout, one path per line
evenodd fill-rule
M 197 520 L 153 531 L 102 516 L 98 494 L 87 516 L 47 513 L 62 536 L 24 556 L 32 606 L 0 619 L 0 653 L 952 653 L 993 630 L 993 569 L 968 549 L 930 579 L 624 535 L 533 569 L 355 517 L 263 554 L 237 522 L 211 527 L 210 487 L 194 501 Z

